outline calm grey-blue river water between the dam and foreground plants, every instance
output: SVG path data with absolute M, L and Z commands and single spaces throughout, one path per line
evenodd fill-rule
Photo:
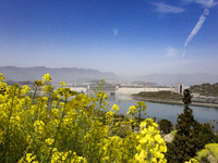
M 131 96 L 126 95 L 117 95 L 108 97 L 107 101 L 110 103 L 108 110 L 112 108 L 113 104 L 118 104 L 120 106 L 120 114 L 125 114 L 128 112 L 129 106 L 135 105 L 136 101 L 131 98 Z M 157 103 L 157 102 L 148 102 L 146 103 L 146 117 L 154 117 L 159 121 L 161 118 L 167 118 L 172 122 L 172 124 L 177 123 L 178 114 L 183 112 L 182 104 L 166 104 L 166 103 Z M 209 122 L 210 120 L 218 120 L 218 109 L 217 108 L 206 108 L 206 106 L 190 106 L 193 110 L 194 118 L 201 123 Z

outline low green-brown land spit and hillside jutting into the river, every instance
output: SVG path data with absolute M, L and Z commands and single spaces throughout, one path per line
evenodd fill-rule
M 218 83 L 190 86 L 190 90 L 193 97 L 191 105 L 218 108 Z M 132 98 L 152 102 L 182 104 L 182 95 L 172 91 L 142 91 L 132 95 Z

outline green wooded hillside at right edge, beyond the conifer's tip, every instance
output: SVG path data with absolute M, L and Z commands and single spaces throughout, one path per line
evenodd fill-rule
M 202 85 L 194 85 L 190 87 L 192 92 L 199 93 L 201 96 L 214 96 L 218 97 L 218 83 L 217 84 L 202 84 Z

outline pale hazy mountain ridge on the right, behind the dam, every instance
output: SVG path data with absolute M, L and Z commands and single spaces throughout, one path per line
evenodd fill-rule
M 215 84 L 218 83 L 218 75 L 211 75 L 207 73 L 196 73 L 196 74 L 150 74 L 137 77 L 138 80 L 158 83 L 160 85 L 170 86 L 171 84 L 175 86 L 178 83 L 184 86 L 199 85 L 204 83 Z

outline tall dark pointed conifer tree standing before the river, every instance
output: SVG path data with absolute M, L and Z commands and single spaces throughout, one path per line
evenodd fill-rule
M 194 128 L 196 121 L 192 114 L 190 90 L 184 90 L 184 112 L 178 116 L 177 134 L 171 143 L 167 143 L 168 151 L 166 158 L 170 163 L 183 163 L 195 156 L 197 151 L 195 139 L 191 137 L 191 129 Z

